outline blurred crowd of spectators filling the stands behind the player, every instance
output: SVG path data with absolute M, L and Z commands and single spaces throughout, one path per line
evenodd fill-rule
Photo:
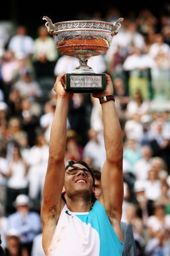
M 114 7 L 105 21 L 122 17 Z M 103 20 L 100 13 L 90 19 Z M 77 58 L 62 56 L 44 25 L 0 22 L 0 233 L 2 247 L 22 256 L 44 255 L 40 208 L 54 116 L 56 76 Z M 124 143 L 122 220 L 132 225 L 137 255 L 170 255 L 170 5 L 155 17 L 144 9 L 124 17 L 107 53 L 91 57 L 108 73 Z M 102 167 L 103 121 L 98 99 L 75 93 L 67 120 L 66 158 Z M 11 242 L 10 239 L 13 239 Z M 15 246 L 11 246 L 11 245 Z M 39 250 L 39 251 L 38 251 Z

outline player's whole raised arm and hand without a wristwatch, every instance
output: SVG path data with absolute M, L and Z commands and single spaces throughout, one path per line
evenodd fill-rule
M 56 78 L 54 90 L 57 94 L 56 109 L 52 121 L 49 145 L 48 167 L 43 188 L 42 220 L 51 214 L 60 214 L 62 209 L 62 188 L 64 185 L 64 155 L 66 148 L 66 125 L 71 93 L 63 89 L 64 74 Z M 53 209 L 53 210 L 52 210 Z

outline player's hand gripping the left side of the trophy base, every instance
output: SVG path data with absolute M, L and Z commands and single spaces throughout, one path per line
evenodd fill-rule
M 53 86 L 54 92 L 56 92 L 57 97 L 68 97 L 69 99 L 72 98 L 73 93 L 66 92 L 64 90 L 64 87 L 66 86 L 66 73 L 60 74 L 55 81 L 55 84 Z

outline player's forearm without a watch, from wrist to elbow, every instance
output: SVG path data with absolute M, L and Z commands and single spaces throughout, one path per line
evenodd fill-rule
M 68 97 L 58 97 L 50 133 L 50 157 L 64 159 L 66 148 L 66 127 Z

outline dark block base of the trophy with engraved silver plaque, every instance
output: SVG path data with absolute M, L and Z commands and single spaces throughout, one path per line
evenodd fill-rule
M 67 92 L 72 93 L 92 93 L 102 91 L 106 88 L 105 74 L 86 74 L 86 73 L 67 73 L 66 88 Z

